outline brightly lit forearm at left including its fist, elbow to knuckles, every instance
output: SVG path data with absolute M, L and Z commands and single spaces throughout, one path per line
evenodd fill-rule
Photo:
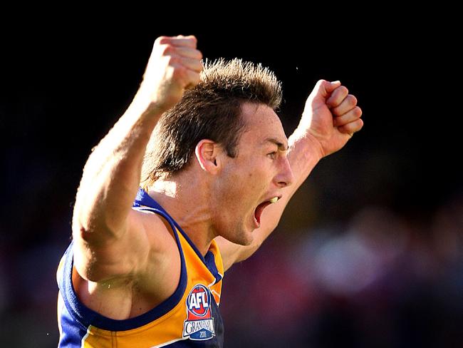
M 162 113 L 199 83 L 201 58 L 194 36 L 156 39 L 132 104 L 85 164 L 73 214 L 75 237 L 95 246 L 123 240 L 127 230 L 140 233 L 140 220 L 128 217 L 147 143 Z

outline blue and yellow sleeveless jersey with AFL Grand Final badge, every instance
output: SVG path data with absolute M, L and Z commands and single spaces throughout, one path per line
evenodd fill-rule
M 203 257 L 165 210 L 139 190 L 134 209 L 164 217 L 180 251 L 177 290 L 140 316 L 125 320 L 104 317 L 79 301 L 72 284 L 73 243 L 58 266 L 58 347 L 222 347 L 224 327 L 219 312 L 224 266 L 213 240 Z

